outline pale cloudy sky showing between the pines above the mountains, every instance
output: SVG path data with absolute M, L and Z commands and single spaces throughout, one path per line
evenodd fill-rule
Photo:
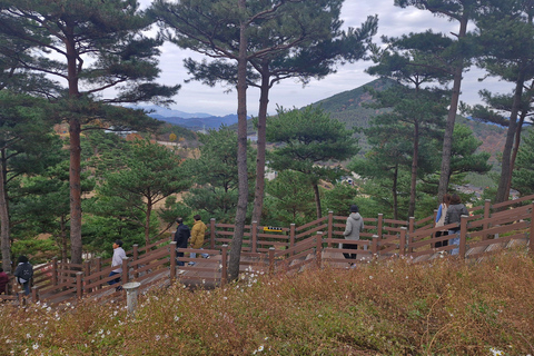
M 141 6 L 147 6 L 150 0 L 140 0 Z M 449 22 L 447 19 L 434 17 L 428 11 L 417 10 L 415 8 L 400 9 L 395 7 L 394 0 L 345 0 L 342 19 L 344 27 L 358 28 L 369 14 L 378 14 L 379 37 L 400 36 L 409 32 L 421 32 L 433 29 L 434 32 L 456 32 L 457 22 Z M 182 60 L 188 57 L 201 59 L 202 57 L 192 51 L 179 49 L 177 46 L 166 43 L 162 47 L 160 58 L 161 76 L 160 82 L 167 85 L 180 83 L 182 87 L 175 97 L 176 103 L 172 109 L 186 112 L 206 112 L 214 116 L 225 116 L 236 113 L 237 93 L 236 91 L 226 92 L 227 88 L 210 88 L 199 82 L 185 83 L 188 78 L 182 66 Z M 276 106 L 285 108 L 309 105 L 318 100 L 328 98 L 342 91 L 355 89 L 376 78 L 365 73 L 365 69 L 370 62 L 359 61 L 353 65 L 338 67 L 337 72 L 322 80 L 312 80 L 306 87 L 295 79 L 286 79 L 276 85 L 269 97 L 269 113 L 275 113 Z M 462 85 L 462 101 L 467 103 L 479 102 L 478 90 L 487 88 L 492 91 L 507 92 L 511 86 L 505 82 L 498 82 L 495 79 L 478 81 L 483 73 L 473 68 L 464 75 Z M 248 115 L 257 115 L 259 103 L 259 90 L 250 88 L 247 91 Z

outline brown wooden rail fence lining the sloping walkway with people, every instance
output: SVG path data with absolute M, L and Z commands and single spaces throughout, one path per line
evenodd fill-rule
M 449 253 L 458 248 L 461 258 L 478 258 L 495 253 L 504 247 L 532 246 L 534 244 L 534 195 L 502 204 L 469 208 L 469 216 L 462 216 L 459 224 L 435 227 L 435 215 L 416 221 L 386 219 L 382 214 L 376 218 L 364 218 L 365 230 L 362 239 L 349 241 L 343 238 L 345 216 L 328 216 L 296 227 L 267 227 L 257 224 L 245 227 L 241 247 L 240 271 L 263 270 L 265 273 L 295 273 L 306 267 L 323 266 L 347 268 L 349 265 L 343 253 L 354 254 L 354 249 L 344 248 L 357 244 L 358 260 L 370 258 L 390 258 L 407 256 L 414 261 L 434 258 L 438 254 Z M 179 279 L 188 284 L 224 286 L 227 281 L 228 254 L 231 249 L 234 225 L 218 224 L 215 219 L 209 224 L 210 235 L 207 239 L 209 249 L 176 249 L 169 239 L 156 241 L 144 248 L 137 245 L 127 251 L 123 259 L 121 284 L 141 281 L 141 288 L 154 284 L 172 283 Z M 447 240 L 451 236 L 435 238 L 438 230 L 459 228 L 459 245 L 435 247 L 435 243 Z M 176 253 L 185 253 L 177 273 Z M 192 259 L 187 253 L 208 254 L 209 259 Z M 532 253 L 532 249 L 531 249 Z M 188 261 L 197 261 L 188 266 Z M 109 273 L 110 259 L 95 258 L 82 265 L 61 263 L 56 258 L 34 270 L 32 299 L 61 303 L 86 296 L 102 297 L 115 288 L 108 286 L 115 277 Z M 128 273 L 126 273 L 128 271 Z M 13 283 L 12 291 L 18 286 Z M 0 298 L 13 298 L 0 296 Z

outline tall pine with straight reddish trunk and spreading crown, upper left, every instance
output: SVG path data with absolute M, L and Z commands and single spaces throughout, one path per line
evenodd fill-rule
M 21 67 L 53 76 L 68 87 L 58 116 L 69 122 L 71 255 L 72 263 L 80 264 L 83 125 L 96 119 L 112 121 L 111 113 L 122 119 L 136 116 L 102 108 L 102 103 L 167 102 L 178 87 L 154 82 L 161 42 L 142 36 L 151 20 L 135 0 L 1 0 L 0 11 L 1 33 L 41 49 L 32 58 L 21 58 Z M 99 97 L 110 88 L 117 91 L 115 96 Z

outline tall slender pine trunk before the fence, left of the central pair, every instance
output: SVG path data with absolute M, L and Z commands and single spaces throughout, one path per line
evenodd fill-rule
M 239 0 L 239 8 L 246 9 L 246 0 Z M 247 177 L 247 37 L 246 23 L 239 29 L 239 58 L 237 62 L 237 171 L 238 199 L 236 210 L 236 228 L 231 239 L 230 261 L 228 264 L 228 280 L 239 277 L 243 236 L 247 214 L 248 177 Z

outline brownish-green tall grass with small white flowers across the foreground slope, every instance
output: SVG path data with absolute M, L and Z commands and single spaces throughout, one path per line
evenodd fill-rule
M 528 355 L 534 263 L 404 259 L 224 289 L 176 284 L 125 305 L 0 307 L 2 355 Z

